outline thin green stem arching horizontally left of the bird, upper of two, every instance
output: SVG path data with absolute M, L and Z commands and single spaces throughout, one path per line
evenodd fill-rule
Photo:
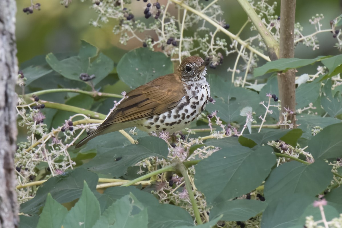
M 26 96 L 32 96 L 32 95 L 42 95 L 47 93 L 61 93 L 61 92 L 72 92 L 72 93 L 81 93 L 86 94 L 94 98 L 100 98 L 100 97 L 116 97 L 116 98 L 122 98 L 122 95 L 119 94 L 113 94 L 113 93 L 101 93 L 96 91 L 84 91 L 84 90 L 78 90 L 78 89 L 51 89 L 51 90 L 41 90 L 34 93 L 28 93 Z

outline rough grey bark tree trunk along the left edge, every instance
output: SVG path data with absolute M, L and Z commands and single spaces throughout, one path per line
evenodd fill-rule
M 14 92 L 18 72 L 15 43 L 15 0 L 0 0 L 0 227 L 18 227 L 13 156 L 16 150 Z

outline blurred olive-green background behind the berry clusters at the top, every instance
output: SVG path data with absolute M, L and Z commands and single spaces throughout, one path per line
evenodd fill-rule
M 89 8 L 92 1 L 74 0 L 68 8 L 60 4 L 59 0 L 32 0 L 34 4 L 40 3 L 41 10 L 35 10 L 32 14 L 23 12 L 23 8 L 30 6 L 30 0 L 17 0 L 17 23 L 16 38 L 18 48 L 19 64 L 27 61 L 37 55 L 46 55 L 53 53 L 77 53 L 80 46 L 80 40 L 86 40 L 100 49 L 105 55 L 109 56 L 115 63 L 119 61 L 124 53 L 137 47 L 141 47 L 142 43 L 137 40 L 131 40 L 126 46 L 119 43 L 119 36 L 114 35 L 113 27 L 118 22 L 111 19 L 108 24 L 104 24 L 101 28 L 95 28 L 89 25 L 90 19 L 96 19 L 97 14 Z M 210 1 L 200 0 L 205 4 Z M 165 4 L 165 0 L 159 1 Z M 270 1 L 271 2 L 271 1 Z M 273 1 L 272 1 L 273 2 Z M 278 6 L 276 12 L 280 15 L 280 0 L 277 1 Z M 229 31 L 237 33 L 240 27 L 247 19 L 246 13 L 241 9 L 236 1 L 219 1 L 222 10 L 225 12 L 223 18 L 229 23 Z M 132 0 L 130 6 L 135 18 L 146 20 L 143 16 L 143 10 L 146 3 L 143 1 Z M 174 5 L 172 6 L 173 11 Z M 172 12 L 172 10 L 170 11 Z M 341 2 L 338 0 L 310 0 L 297 1 L 296 21 L 300 22 L 304 27 L 303 34 L 308 35 L 315 31 L 314 26 L 310 25 L 309 19 L 315 14 L 322 13 L 324 19 L 322 21 L 323 29 L 330 27 L 330 20 L 336 18 L 342 13 Z M 150 18 L 152 20 L 152 18 Z M 214 30 L 213 30 L 214 31 Z M 249 29 L 241 34 L 241 37 L 247 38 Z M 143 35 L 142 37 L 144 37 Z M 151 34 L 153 37 L 153 34 Z M 218 34 L 224 37 L 224 34 Z M 312 48 L 299 44 L 296 49 L 298 58 L 313 58 L 318 55 L 334 55 L 339 51 L 334 48 L 336 40 L 331 33 L 323 33 L 318 35 L 320 48 L 313 51 Z M 228 45 L 230 40 L 227 39 Z M 203 57 L 203 56 L 202 56 Z M 216 71 L 226 72 L 228 66 L 234 65 L 234 55 L 225 59 L 223 65 L 219 66 Z M 209 73 L 210 73 L 209 71 Z

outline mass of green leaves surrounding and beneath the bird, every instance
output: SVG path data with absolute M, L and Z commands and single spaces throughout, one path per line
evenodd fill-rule
M 320 56 L 309 60 L 287 59 L 274 61 L 271 65 L 267 63 L 257 69 L 254 75 L 298 68 L 317 61 L 325 64 L 329 70 L 327 75 L 339 71 L 338 56 Z M 49 89 L 66 89 L 70 85 L 82 91 L 94 92 L 88 83 L 79 79 L 81 72 L 87 72 L 96 75 L 92 80 L 95 91 L 118 95 L 122 92 L 120 89 L 136 88 L 160 75 L 173 72 L 170 58 L 141 48 L 128 52 L 120 60 L 117 66 L 120 82 L 117 83 L 115 74 L 107 76 L 113 69 L 113 62 L 103 54 L 98 54 L 94 46 L 84 41 L 78 55 L 65 57 L 49 54 L 47 62 L 40 56 L 28 61 L 23 67 L 29 85 L 27 92 L 44 91 L 44 84 L 50 86 Z M 79 68 L 73 68 L 74 65 Z M 47 82 L 51 74 L 56 77 L 49 84 Z M 208 127 L 209 118 L 199 119 L 191 128 L 196 134 L 191 130 L 183 131 L 182 135 L 170 137 L 168 142 L 134 130 L 130 137 L 137 144 L 132 144 L 120 132 L 113 132 L 75 149 L 69 144 L 86 135 L 80 135 L 80 129 L 93 129 L 94 126 L 90 126 L 94 124 L 91 122 L 93 120 L 79 113 L 75 116 L 72 108 L 68 111 L 60 110 L 58 105 L 55 108 L 57 111 L 40 109 L 40 112 L 46 114 L 44 123 L 48 123 L 47 128 L 54 128 L 54 132 L 43 134 L 42 139 L 47 141 L 33 146 L 40 149 L 34 149 L 32 157 L 45 158 L 41 150 L 47 153 L 46 156 L 51 160 L 42 159 L 44 165 L 35 165 L 34 171 L 37 173 L 36 180 L 48 180 L 38 187 L 32 199 L 21 204 L 20 212 L 32 217 L 21 216 L 20 226 L 186 228 L 194 226 L 194 207 L 197 206 L 202 217 L 209 220 L 198 225 L 199 228 L 212 227 L 219 220 L 247 221 L 250 218 L 261 219 L 261 227 L 297 228 L 303 227 L 306 216 L 314 215 L 316 220 L 320 219 L 319 209 L 313 207 L 313 202 L 326 189 L 329 189 L 326 194 L 328 205 L 324 207 L 326 215 L 329 213 L 329 219 L 337 217 L 342 212 L 341 187 L 335 182 L 340 181 L 342 174 L 336 161 L 336 158 L 342 157 L 342 123 L 338 119 L 342 114 L 341 87 L 335 86 L 332 90 L 333 78 L 323 80 L 323 86 L 321 79 L 319 77 L 310 83 L 301 84 L 296 90 L 297 108 L 301 109 L 297 113 L 297 129 L 267 129 L 274 128 L 279 117 L 279 103 L 273 99 L 268 103 L 269 97 L 266 96 L 268 93 L 279 93 L 276 77 L 270 77 L 260 92 L 257 92 L 235 87 L 230 79 L 209 75 L 211 96 L 215 103 L 208 104 L 204 113 L 215 113 L 215 117 L 210 119 L 215 130 L 211 131 Z M 123 82 L 127 84 L 126 87 L 122 86 Z M 58 96 L 43 93 L 39 96 L 47 101 L 68 104 L 69 107 L 101 110 L 99 112 L 107 114 L 113 106 L 113 99 L 104 101 L 105 97 L 98 97 L 96 93 L 95 96 L 76 92 L 63 92 Z M 258 132 L 259 126 L 256 128 L 254 125 L 261 124 L 258 117 L 266 111 L 260 105 L 261 102 L 265 106 L 269 105 L 268 110 L 273 113 L 267 113 L 264 123 L 266 128 Z M 315 110 L 317 113 L 313 113 L 313 109 L 310 112 L 305 109 L 309 103 L 319 106 L 319 110 Z M 251 134 L 245 130 L 239 135 L 246 124 L 246 115 L 240 115 L 241 110 L 255 112 L 253 118 L 257 123 L 250 122 Z M 61 131 L 61 126 L 65 126 L 65 120 L 69 119 L 73 120 L 75 129 Z M 84 120 L 90 122 L 77 123 Z M 220 123 L 215 124 L 217 120 L 222 121 L 224 128 L 221 129 Z M 130 130 L 126 129 L 126 132 Z M 38 142 L 42 139 L 35 138 Z M 56 139 L 60 141 L 56 142 Z M 28 148 L 27 145 L 19 145 L 20 152 Z M 20 152 L 16 155 L 20 155 Z M 24 154 L 28 153 L 31 152 Z M 68 160 L 66 154 L 77 162 L 73 164 L 76 169 L 63 170 L 63 162 Z M 190 194 L 183 186 L 184 179 L 180 170 L 176 169 L 185 158 L 188 159 L 185 165 L 189 167 L 190 183 L 195 186 L 190 187 L 196 196 L 197 205 L 191 203 Z M 16 166 L 23 166 L 22 170 L 29 167 L 29 163 L 22 164 L 22 160 L 17 157 L 15 159 Z M 313 163 L 308 164 L 309 161 Z M 55 176 L 47 171 L 48 162 Z M 171 173 L 171 182 L 168 174 L 162 174 L 161 171 L 158 173 L 165 167 L 175 171 Z M 57 170 L 62 170 L 62 174 L 57 173 Z M 150 175 L 151 172 L 154 174 Z M 142 173 L 146 176 L 142 176 Z M 137 187 L 99 187 L 97 184 L 101 177 L 118 178 L 115 181 L 140 178 L 137 181 L 147 180 L 149 185 L 141 182 Z M 98 188 L 105 190 L 99 190 L 99 193 L 96 191 Z M 20 192 L 27 193 L 25 190 Z M 247 196 L 252 197 L 248 199 Z M 69 211 L 65 206 L 68 206 Z

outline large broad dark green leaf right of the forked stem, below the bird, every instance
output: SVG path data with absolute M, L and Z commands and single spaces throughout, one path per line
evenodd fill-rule
M 258 187 L 276 162 L 269 146 L 252 150 L 221 143 L 220 148 L 196 165 L 196 187 L 205 194 L 209 204 L 241 196 Z

